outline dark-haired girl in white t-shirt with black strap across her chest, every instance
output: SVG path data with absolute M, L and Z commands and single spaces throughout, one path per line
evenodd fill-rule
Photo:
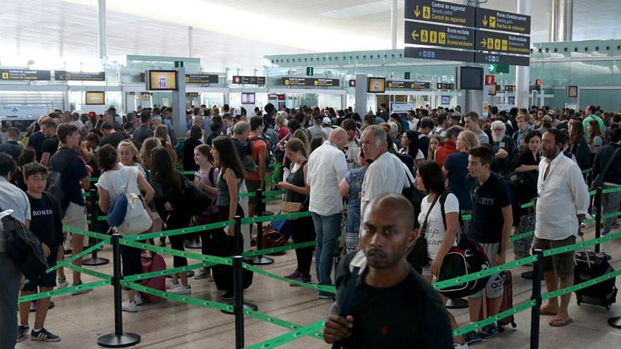
M 423 268 L 423 278 L 432 282 L 433 276 L 440 274 L 444 257 L 457 238 L 457 231 L 459 230 L 459 201 L 451 192 L 445 194 L 445 177 L 442 174 L 440 165 L 435 161 L 425 161 L 423 164 L 418 165 L 418 169 L 416 169 L 416 188 L 429 193 L 429 195 L 423 198 L 421 203 L 421 214 L 418 215 L 418 223 L 421 224 L 421 228 L 418 231 L 418 236 L 425 229 L 430 265 Z M 446 196 L 444 202 L 445 217 L 442 217 L 442 207 L 440 207 L 442 204 L 440 196 L 442 195 Z M 427 221 L 426 226 L 424 225 L 425 221 Z M 442 293 L 440 293 L 440 298 L 443 303 L 446 303 L 448 300 Z M 457 322 L 455 322 L 454 317 L 450 312 L 447 312 L 447 314 L 449 314 L 452 328 L 457 329 Z M 461 336 L 454 337 L 453 341 L 457 345 L 465 343 Z

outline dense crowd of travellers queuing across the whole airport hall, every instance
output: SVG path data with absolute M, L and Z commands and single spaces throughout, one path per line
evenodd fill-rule
M 461 233 L 481 245 L 492 266 L 507 261 L 512 234 L 535 231 L 534 240 L 525 238 L 514 244 L 517 259 L 528 256 L 533 245 L 543 249 L 569 245 L 579 234 L 581 219 L 591 204 L 581 170 L 593 167 L 594 178 L 608 168 L 603 173 L 604 185 L 621 185 L 621 157 L 611 159 L 621 140 L 621 114 L 606 113 L 598 106 L 587 106 L 584 111 L 535 106 L 499 111 L 491 106 L 488 115 L 474 111 L 462 114 L 459 106 L 421 106 L 405 115 L 388 114 L 387 110 L 382 105 L 378 113 L 361 116 L 351 107 L 301 106 L 277 111 L 267 104 L 248 115 L 243 107 L 201 105 L 186 111 L 186 135 L 176 133 L 179 128 L 174 126 L 169 107 L 142 109 L 126 116 L 112 107 L 103 115 L 54 111 L 33 123 L 26 137 L 16 128 L 8 129 L 5 142 L 0 144 L 0 207 L 13 209 L 13 216 L 30 226 L 52 267 L 65 255 L 88 246 L 88 238 L 63 233 L 63 226 L 88 230 L 88 203 L 82 193 L 90 189 L 92 177 L 99 178 L 95 183 L 100 197 L 98 209 L 104 214 L 123 194 L 142 197 L 152 224 L 142 231 L 135 231 L 131 224 L 118 227 L 121 233 L 131 235 L 227 221 L 237 215 L 254 216 L 259 207 L 257 197 L 244 200 L 239 193 L 265 190 L 268 165 L 282 164 L 284 174 L 275 183 L 285 191 L 282 213 L 312 213 L 308 218 L 289 220 L 291 239 L 294 243 L 316 241 L 315 247 L 296 250 L 296 269 L 285 277 L 313 282 L 310 269 L 314 250 L 316 283 L 336 284 L 340 295 L 351 277 L 345 264 L 354 263 L 356 251 L 363 251 L 368 269 L 362 274 L 366 288 L 360 297 L 377 297 L 380 289 L 404 283 L 405 289 L 433 300 L 433 306 L 421 312 L 437 319 L 442 326 L 433 331 L 442 332 L 457 328 L 457 322 L 442 307 L 446 298 L 417 284 L 434 281 L 443 258 Z M 195 171 L 193 180 L 183 176 L 181 169 Z M 52 171 L 61 174 L 62 197 L 45 191 Z M 589 180 L 592 178 L 586 178 Z M 195 189 L 212 200 L 198 215 L 188 207 Z M 536 197 L 536 207 L 520 207 Z M 620 203 L 619 193 L 609 195 L 603 202 L 604 212 L 617 211 Z M 94 212 L 94 207 L 89 209 Z M 471 220 L 462 222 L 462 214 L 470 214 Z M 613 224 L 614 218 L 607 219 L 603 233 L 610 233 Z M 419 270 L 422 277 L 404 267 L 409 250 L 421 234 L 428 252 L 428 262 Z M 241 246 L 235 245 L 233 235 L 232 227 L 201 232 L 203 254 L 227 257 L 248 250 L 252 230 L 243 234 Z M 183 250 L 186 238 L 170 236 L 171 248 Z M 333 282 L 332 264 L 339 252 L 339 238 L 344 240 L 342 252 L 350 255 L 342 259 Z M 151 243 L 165 245 L 164 240 Z M 123 276 L 142 273 L 141 258 L 152 257 L 150 252 L 124 246 L 121 255 Z M 5 281 L 0 284 L 3 348 L 12 348 L 9 344 L 29 334 L 33 340 L 60 341 L 43 327 L 49 298 L 37 301 L 32 331 L 28 326 L 30 305 L 25 302 L 19 307 L 18 326 L 11 329 L 9 324 L 15 321 L 18 292 L 28 295 L 37 288 L 44 292 L 67 287 L 64 268 L 20 286 L 19 266 L 4 254 L 1 236 L 0 260 L 0 278 Z M 81 259 L 73 264 L 79 267 Z M 174 257 L 174 267 L 187 265 L 185 258 Z M 572 253 L 546 259 L 544 271 L 548 290 L 571 286 Z M 201 269 L 195 281 L 203 278 L 215 281 L 224 291 L 222 299 L 234 297 L 231 267 Z M 490 298 L 491 315 L 500 311 L 500 280 L 500 275 L 492 276 L 485 290 L 470 295 L 471 322 L 480 319 L 483 297 Z M 74 270 L 72 285 L 80 283 L 80 272 Z M 179 295 L 192 292 L 186 272 L 174 274 L 167 288 Z M 73 294 L 83 292 L 88 290 Z M 390 297 L 404 296 L 403 290 L 390 293 Z M 553 315 L 550 326 L 572 321 L 567 311 L 570 296 L 562 296 L 560 302 L 551 298 L 543 307 L 542 314 Z M 318 298 L 332 299 L 334 295 L 320 290 Z M 342 301 L 337 297 L 337 304 Z M 142 302 L 139 294 L 128 290 L 122 309 L 136 312 Z M 411 306 L 409 302 L 395 302 Z M 362 338 L 380 331 L 374 326 L 394 325 L 390 336 L 394 343 L 400 343 L 400 336 L 410 330 L 393 322 L 414 321 L 409 317 L 394 317 L 390 325 L 364 322 L 382 312 L 382 304 L 367 308 L 355 303 L 351 317 L 342 317 L 334 310 L 326 325 L 326 340 L 348 341 L 355 335 L 356 340 L 351 342 L 355 347 L 355 343 L 363 343 Z M 397 307 L 395 311 L 399 310 L 405 309 Z M 361 326 L 352 325 L 357 324 L 353 319 Z M 421 328 L 426 326 L 416 323 Z M 498 326 L 490 324 L 449 339 L 449 343 L 467 348 L 497 332 Z M 450 338 L 450 331 L 442 333 Z M 373 341 L 368 338 L 367 343 Z

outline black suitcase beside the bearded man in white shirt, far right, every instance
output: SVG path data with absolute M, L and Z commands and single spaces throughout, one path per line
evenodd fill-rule
M 615 271 L 608 263 L 605 253 L 593 251 L 576 252 L 574 255 L 574 285 L 592 280 Z M 617 299 L 616 278 L 609 278 L 596 285 L 576 291 L 578 305 L 587 303 L 610 310 Z

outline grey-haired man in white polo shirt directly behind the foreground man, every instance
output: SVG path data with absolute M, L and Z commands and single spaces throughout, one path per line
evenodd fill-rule
M 366 158 L 373 160 L 362 182 L 360 212 L 364 214 L 366 205 L 375 197 L 385 192 L 401 194 L 404 188 L 414 183 L 414 178 L 407 166 L 388 152 L 386 131 L 380 126 L 370 125 L 365 128 L 360 146 Z

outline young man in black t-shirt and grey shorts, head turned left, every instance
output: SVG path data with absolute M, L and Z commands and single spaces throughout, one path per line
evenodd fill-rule
M 472 197 L 472 220 L 469 226 L 469 237 L 476 240 L 485 250 L 490 264 L 495 267 L 505 264 L 507 244 L 511 235 L 513 213 L 511 204 L 513 195 L 509 184 L 497 173 L 490 170 L 494 157 L 489 146 L 476 147 L 470 150 L 468 157 L 468 178 Z M 486 297 L 490 298 L 491 315 L 498 314 L 502 302 L 502 279 L 495 274 L 490 277 L 486 287 Z M 478 292 L 468 300 L 470 321 L 477 322 L 481 310 L 481 297 Z M 488 339 L 498 332 L 496 324 L 484 326 L 481 331 L 471 331 L 464 335 L 466 343 L 475 343 Z

